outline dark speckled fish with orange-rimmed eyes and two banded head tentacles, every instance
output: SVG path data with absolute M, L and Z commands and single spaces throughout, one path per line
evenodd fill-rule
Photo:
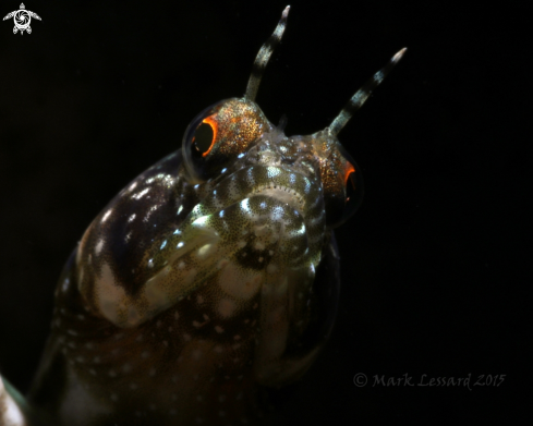
M 258 424 L 265 389 L 299 379 L 324 346 L 340 283 L 332 229 L 361 193 L 337 134 L 403 51 L 330 126 L 287 136 L 254 99 L 288 11 L 244 97 L 202 111 L 73 251 L 27 397 L 37 422 Z

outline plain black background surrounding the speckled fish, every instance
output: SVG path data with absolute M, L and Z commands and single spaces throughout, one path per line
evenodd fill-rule
M 2 0 L 0 15 L 19 1 Z M 13 35 L 12 20 L 0 25 L 0 368 L 22 389 L 84 229 L 180 146 L 197 112 L 244 93 L 286 2 L 25 4 L 43 19 L 31 35 Z M 291 5 L 257 98 L 270 121 L 288 115 L 288 134 L 328 125 L 409 50 L 340 134 L 366 196 L 337 232 L 343 287 L 332 339 L 287 391 L 283 415 L 294 424 L 517 424 L 532 385 L 525 8 Z M 358 373 L 365 387 L 354 386 Z M 413 385 L 424 374 L 471 375 L 470 389 L 375 385 L 376 375 L 404 374 Z M 476 386 L 486 375 L 506 377 Z

